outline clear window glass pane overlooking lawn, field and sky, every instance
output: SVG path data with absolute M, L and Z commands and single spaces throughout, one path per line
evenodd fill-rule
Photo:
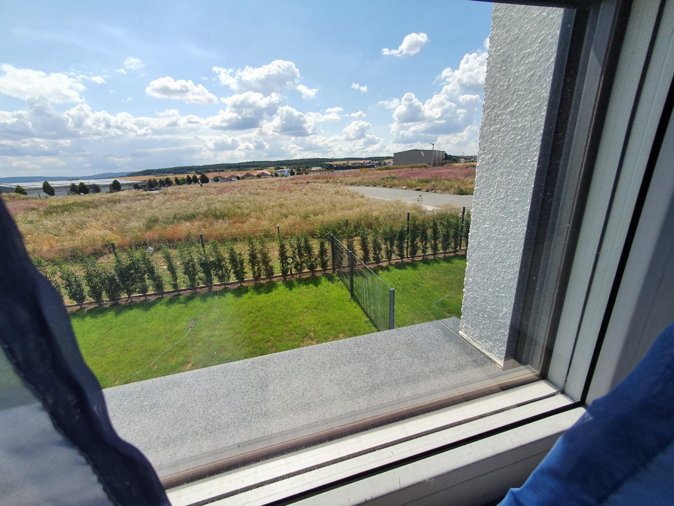
M 572 27 L 435 7 L 11 7 L 2 198 L 160 476 L 539 379 L 503 362 Z

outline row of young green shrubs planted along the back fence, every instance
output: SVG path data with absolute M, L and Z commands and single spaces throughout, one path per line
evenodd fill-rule
M 381 224 L 375 220 L 371 228 L 361 224 L 349 225 L 341 231 L 346 247 L 365 263 L 377 264 L 394 258 L 415 258 L 436 255 L 443 251 L 458 251 L 467 247 L 470 215 L 462 222 L 459 214 L 433 216 L 428 222 L 412 216 L 409 224 Z M 290 274 L 309 271 L 326 272 L 330 267 L 329 232 L 319 226 L 310 236 L 306 231 L 295 236 L 280 236 L 278 263 L 264 236 L 247 236 L 242 243 L 222 245 L 214 240 L 204 247 L 180 243 L 177 249 L 164 246 L 159 251 L 126 249 L 115 253 L 111 265 L 96 259 L 80 259 L 66 264 L 48 265 L 36 259 L 36 265 L 52 284 L 71 301 L 82 305 L 90 298 L 95 303 L 117 302 L 124 295 L 147 295 L 150 291 L 164 294 L 166 290 L 191 291 L 200 286 L 212 290 L 215 283 L 247 279 L 255 282 L 269 280 L 277 274 L 284 279 Z M 276 242 L 276 241 L 275 241 Z M 278 267 L 276 267 L 278 265 Z

